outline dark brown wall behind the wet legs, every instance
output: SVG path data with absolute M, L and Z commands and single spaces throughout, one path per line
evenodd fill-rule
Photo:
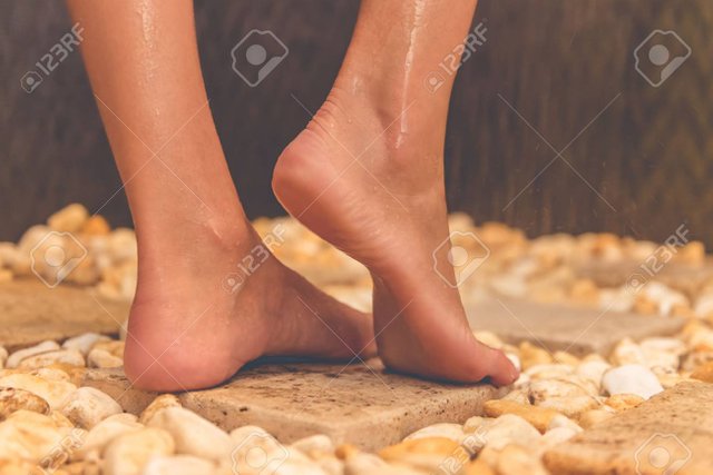
M 196 1 L 211 107 L 250 216 L 283 212 L 270 189 L 272 166 L 309 119 L 291 93 L 310 109 L 321 105 L 358 8 L 355 0 Z M 31 95 L 19 85 L 71 27 L 64 2 L 3 0 L 0 18 L 2 240 L 71 201 L 96 210 L 120 184 L 78 53 Z M 685 222 L 713 245 L 713 2 L 481 0 L 480 20 L 487 43 L 461 68 L 451 101 L 451 209 L 531 236 L 611 230 L 664 239 Z M 290 48 L 257 88 L 229 59 L 253 28 Z M 693 50 L 660 88 L 634 70 L 633 50 L 654 29 L 676 31 Z M 560 150 L 611 101 L 563 154 L 572 167 L 560 158 L 546 167 L 556 157 L 547 141 Z M 121 192 L 101 212 L 113 225 L 130 222 Z

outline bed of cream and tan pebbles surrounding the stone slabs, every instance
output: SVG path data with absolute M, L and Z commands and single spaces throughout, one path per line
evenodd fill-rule
M 713 383 L 713 281 L 692 291 L 652 277 L 631 291 L 598 287 L 573 270 L 577 259 L 644 261 L 656 245 L 611 235 L 528 240 L 504 225 L 475 227 L 459 215 L 450 222 L 453 230 L 466 236 L 473 232 L 480 239 L 473 245 L 455 236 L 455 245 L 471 246 L 471 250 L 482 246 L 489 253 L 479 271 L 461 286 L 467 301 L 491 294 L 596 308 L 616 301 L 617 309 L 687 321 L 673 337 L 624 339 L 611 355 L 582 358 L 548 353 L 527 342 L 505 344 L 494 334 L 477 331 L 478 338 L 502 348 L 521 369 L 510 393 L 487 402 L 485 414 L 465 424 L 423 427 L 378 453 L 335 446 L 320 434 L 283 445 L 255 426 L 226 433 L 183 408 L 170 394 L 156 397 L 139 415 L 124 413 L 109 395 L 81 386 L 85 368 L 121 365 L 120 338 L 85 334 L 11 354 L 0 347 L 0 473 L 547 474 L 541 456 L 548 448 L 678 382 Z M 369 276 L 359 264 L 291 219 L 260 219 L 255 226 L 263 237 L 280 237 L 271 248 L 286 264 L 335 297 L 369 308 Z M 30 228 L 18 244 L 0 244 L 0 281 L 31 275 L 28 253 L 47 245 L 42 239 L 52 230 L 71 234 L 88 251 L 66 277 L 67 284 L 95 286 L 107 298 L 131 298 L 136 283 L 133 231 L 111 230 L 106 220 L 89 217 L 80 205 Z M 59 236 L 52 243 L 61 239 L 70 237 Z M 688 243 L 672 258 L 696 265 L 704 261 L 705 253 L 699 243 Z

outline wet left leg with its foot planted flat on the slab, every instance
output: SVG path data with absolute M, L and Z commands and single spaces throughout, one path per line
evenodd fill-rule
M 368 316 L 256 248 L 207 107 L 192 1 L 69 6 L 85 28 L 82 55 L 136 225 L 128 377 L 149 389 L 191 389 L 262 355 L 361 350 L 373 337 Z M 248 255 L 263 264 L 227 291 L 226 277 Z

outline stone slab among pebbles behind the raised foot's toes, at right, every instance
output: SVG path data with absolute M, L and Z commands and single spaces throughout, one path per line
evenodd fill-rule
M 475 329 L 490 330 L 506 342 L 529 340 L 550 352 L 607 355 L 622 338 L 672 335 L 684 318 L 641 316 L 515 299 L 487 299 L 468 308 Z

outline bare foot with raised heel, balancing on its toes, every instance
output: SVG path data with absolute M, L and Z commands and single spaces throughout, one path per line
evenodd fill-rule
M 293 216 L 370 269 L 387 366 L 509 384 L 517 370 L 473 337 L 457 289 L 440 277 L 453 276 L 442 246 L 449 237 L 442 141 L 407 133 L 400 120 L 335 87 L 280 157 L 273 189 Z

